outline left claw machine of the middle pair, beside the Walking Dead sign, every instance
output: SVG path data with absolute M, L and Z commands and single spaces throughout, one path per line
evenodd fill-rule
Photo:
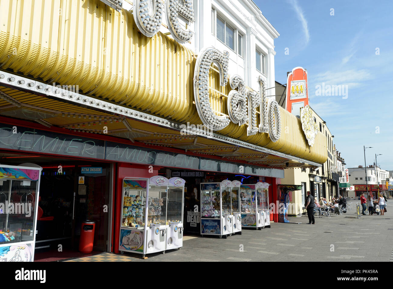
M 231 194 L 232 182 L 201 183 L 200 233 L 225 238 L 232 234 Z

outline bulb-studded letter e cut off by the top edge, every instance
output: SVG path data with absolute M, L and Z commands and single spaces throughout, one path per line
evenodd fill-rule
M 183 4 L 184 2 L 184 4 Z M 167 0 L 166 13 L 168 19 L 168 29 L 172 37 L 180 43 L 185 43 L 193 37 L 191 31 L 186 31 L 180 26 L 179 14 L 182 15 L 188 24 L 194 22 L 194 10 L 192 0 Z

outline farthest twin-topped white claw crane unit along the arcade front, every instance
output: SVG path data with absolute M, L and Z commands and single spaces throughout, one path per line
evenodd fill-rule
M 261 230 L 270 227 L 268 183 L 240 186 L 242 227 Z

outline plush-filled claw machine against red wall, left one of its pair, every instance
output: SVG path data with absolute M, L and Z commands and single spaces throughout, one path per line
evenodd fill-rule
M 119 251 L 165 253 L 168 183 L 162 176 L 123 179 Z

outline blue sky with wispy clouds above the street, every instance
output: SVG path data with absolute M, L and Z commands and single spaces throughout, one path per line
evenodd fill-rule
M 310 106 L 326 121 L 346 167 L 364 166 L 365 145 L 373 147 L 367 166 L 383 154 L 378 165 L 392 170 L 393 1 L 254 2 L 280 33 L 275 80 L 286 83 L 296 66 L 307 69 Z M 322 83 L 347 86 L 347 96 L 316 95 Z

